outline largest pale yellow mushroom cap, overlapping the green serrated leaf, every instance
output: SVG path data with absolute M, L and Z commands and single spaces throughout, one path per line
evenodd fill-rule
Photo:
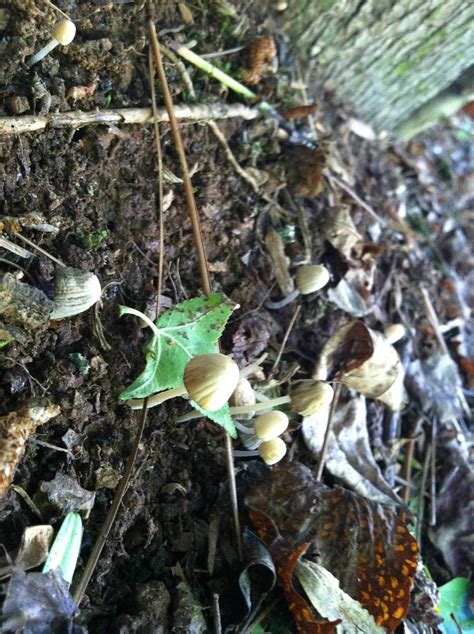
M 239 378 L 239 366 L 219 353 L 198 355 L 184 369 L 189 396 L 208 412 L 215 412 L 227 403 Z

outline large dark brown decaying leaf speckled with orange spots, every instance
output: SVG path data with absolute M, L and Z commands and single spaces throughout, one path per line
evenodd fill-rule
M 394 510 L 331 489 L 295 462 L 274 469 L 247 503 L 268 514 L 293 548 L 309 544 L 307 557 L 317 558 L 377 625 L 395 630 L 408 609 L 418 546 Z

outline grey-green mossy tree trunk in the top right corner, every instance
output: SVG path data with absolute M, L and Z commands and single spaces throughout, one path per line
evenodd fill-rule
M 472 0 L 293 0 L 291 40 L 318 79 L 377 130 L 394 131 L 474 58 Z

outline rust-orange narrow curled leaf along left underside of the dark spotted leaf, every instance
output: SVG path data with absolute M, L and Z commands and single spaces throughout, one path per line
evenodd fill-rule
M 260 539 L 267 544 L 270 550 L 298 632 L 300 634 L 333 634 L 336 631 L 336 625 L 340 621 L 333 623 L 318 621 L 307 601 L 293 587 L 293 574 L 296 564 L 298 559 L 306 552 L 308 544 L 301 544 L 297 548 L 292 547 L 280 535 L 275 523 L 262 511 L 250 509 L 250 519 L 257 529 Z

